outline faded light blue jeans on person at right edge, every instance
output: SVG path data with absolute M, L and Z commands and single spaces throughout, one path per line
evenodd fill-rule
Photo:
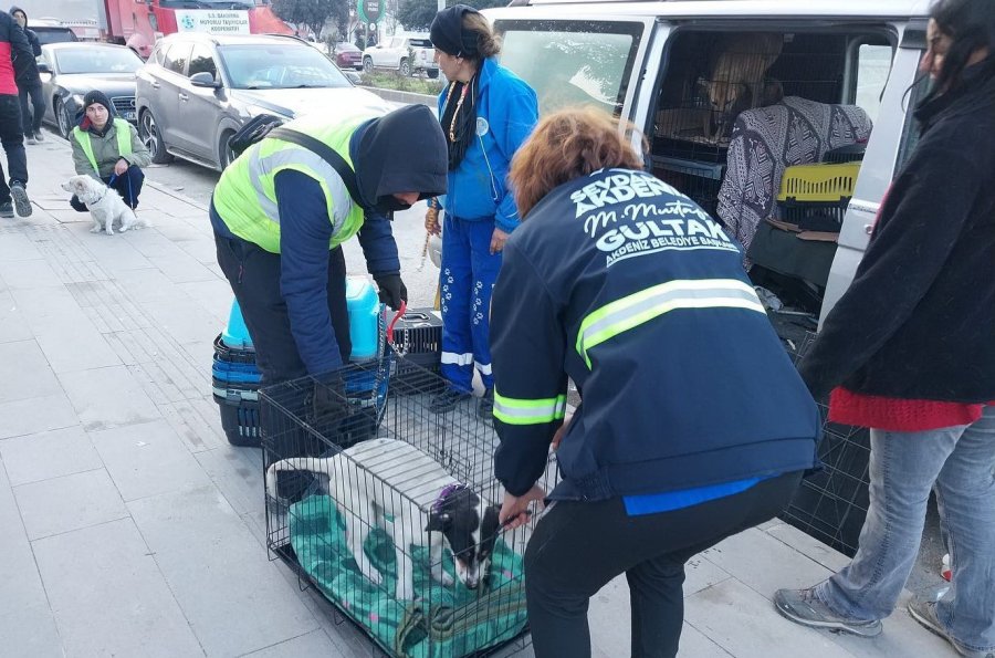
M 919 554 L 935 488 L 953 578 L 936 606 L 967 648 L 995 648 L 995 406 L 981 419 L 929 431 L 871 429 L 870 508 L 853 561 L 818 585 L 838 615 L 891 614 Z

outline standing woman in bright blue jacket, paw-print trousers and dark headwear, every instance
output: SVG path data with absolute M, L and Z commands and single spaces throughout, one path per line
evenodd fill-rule
M 432 21 L 436 60 L 450 81 L 439 95 L 439 116 L 449 146 L 449 194 L 442 231 L 442 375 L 449 387 L 431 409 L 451 410 L 470 397 L 473 367 L 484 396 L 478 407 L 491 418 L 493 376 L 489 346 L 491 291 L 501 252 L 519 226 L 519 211 L 505 177 L 515 152 L 538 117 L 535 92 L 494 61 L 500 45 L 488 20 L 457 4 Z M 438 203 L 438 200 L 436 201 Z M 438 233 L 438 209 L 430 206 L 426 229 Z

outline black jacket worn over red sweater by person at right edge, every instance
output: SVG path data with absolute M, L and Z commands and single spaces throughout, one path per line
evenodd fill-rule
M 987 65 L 987 70 L 983 66 Z M 921 139 L 799 369 L 818 398 L 995 400 L 995 62 L 920 105 Z

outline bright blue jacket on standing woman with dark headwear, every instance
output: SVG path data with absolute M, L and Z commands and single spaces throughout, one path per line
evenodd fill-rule
M 460 166 L 449 173 L 443 207 L 462 220 L 493 218 L 498 228 L 510 233 L 519 226 L 519 210 L 507 189 L 507 170 L 512 156 L 535 127 L 538 102 L 532 87 L 493 59 L 483 61 L 479 75 L 478 137 L 467 148 Z M 449 87 L 439 95 L 440 117 L 448 94 Z M 448 130 L 449 126 L 442 129 Z

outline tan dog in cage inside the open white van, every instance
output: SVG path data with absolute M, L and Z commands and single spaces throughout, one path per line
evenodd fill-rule
M 716 48 L 719 52 L 712 61 L 709 79 L 701 81 L 712 109 L 704 122 L 708 138 L 721 138 L 737 114 L 766 103 L 772 93 L 764 76 L 781 56 L 784 38 L 771 32 L 744 32 L 723 38 Z M 716 115 L 715 132 L 712 130 L 713 115 Z

